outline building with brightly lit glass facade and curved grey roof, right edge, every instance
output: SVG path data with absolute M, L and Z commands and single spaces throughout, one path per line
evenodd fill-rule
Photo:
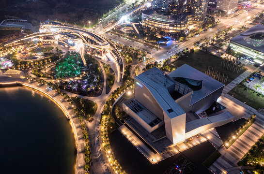
M 264 61 L 264 26 L 257 24 L 233 37 L 227 53 L 236 58 L 262 64 Z

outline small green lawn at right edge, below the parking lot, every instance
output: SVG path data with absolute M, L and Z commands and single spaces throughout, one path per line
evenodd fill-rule
M 234 87 L 231 91 L 228 92 L 228 94 L 241 102 L 246 102 L 248 106 L 251 106 L 254 109 L 258 110 L 259 108 L 264 108 L 264 95 L 261 95 L 254 90 L 249 89 L 248 87 L 238 85 L 236 89 Z

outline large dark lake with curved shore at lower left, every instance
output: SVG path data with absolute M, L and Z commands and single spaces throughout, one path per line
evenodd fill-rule
M 23 87 L 0 88 L 0 174 L 74 174 L 76 147 L 54 102 Z

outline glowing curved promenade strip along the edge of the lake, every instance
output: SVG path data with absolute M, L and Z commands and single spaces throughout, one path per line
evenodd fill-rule
M 72 127 L 72 130 L 74 132 L 74 139 L 75 139 L 75 149 L 77 151 L 77 156 L 76 156 L 76 160 L 75 160 L 75 174 L 77 174 L 77 171 L 78 171 L 78 156 L 79 156 L 79 151 L 78 151 L 78 136 L 77 136 L 77 131 L 76 131 L 76 127 L 74 126 L 74 123 L 73 123 L 73 120 L 70 116 L 70 114 L 67 112 L 66 108 L 64 107 L 64 105 L 57 101 L 57 99 L 53 98 L 51 95 L 49 95 L 48 93 L 46 93 L 45 91 L 37 88 L 37 87 L 34 87 L 34 86 L 30 86 L 28 84 L 25 84 L 23 82 L 10 82 L 10 83 L 1 83 L 0 82 L 0 87 L 26 87 L 26 88 L 29 88 L 31 90 L 34 90 L 34 91 L 37 91 L 41 94 L 44 94 L 48 99 L 50 99 L 52 102 L 54 102 L 63 112 L 63 114 L 66 116 L 66 118 L 68 120 L 70 120 L 70 125 Z

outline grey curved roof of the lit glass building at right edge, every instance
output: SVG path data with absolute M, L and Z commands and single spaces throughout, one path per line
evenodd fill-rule
M 264 53 L 264 26 L 257 24 L 247 31 L 236 35 L 231 41 Z

